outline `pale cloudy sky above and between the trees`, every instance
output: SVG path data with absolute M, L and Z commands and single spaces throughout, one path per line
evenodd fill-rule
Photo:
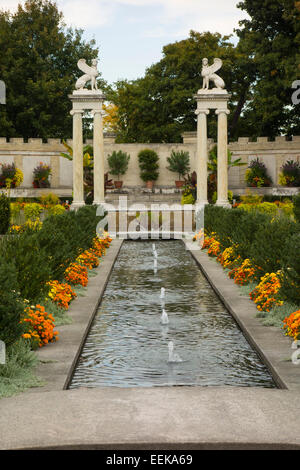
M 0 0 L 15 11 L 24 0 Z M 109 83 L 142 77 L 162 58 L 166 44 L 186 39 L 191 29 L 232 34 L 246 17 L 237 0 L 57 0 L 68 26 L 100 49 L 99 70 Z

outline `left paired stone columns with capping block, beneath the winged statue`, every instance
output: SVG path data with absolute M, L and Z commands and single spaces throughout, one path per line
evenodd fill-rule
M 69 95 L 73 104 L 73 204 L 72 209 L 83 206 L 83 139 L 82 114 L 91 111 L 94 116 L 94 204 L 104 203 L 104 142 L 102 106 L 105 96 L 101 91 L 78 90 Z

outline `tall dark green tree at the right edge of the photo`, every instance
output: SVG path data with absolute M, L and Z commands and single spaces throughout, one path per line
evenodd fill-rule
M 250 19 L 237 30 L 239 47 L 255 70 L 252 100 L 242 123 L 246 135 L 299 134 L 300 108 L 292 105 L 292 83 L 300 75 L 300 2 L 244 0 Z

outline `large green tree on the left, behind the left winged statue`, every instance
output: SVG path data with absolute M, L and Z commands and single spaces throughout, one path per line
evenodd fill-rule
M 81 74 L 77 61 L 98 56 L 95 41 L 82 34 L 66 29 L 51 0 L 27 0 L 15 14 L 0 12 L 0 77 L 7 87 L 1 136 L 71 137 L 68 94 Z

